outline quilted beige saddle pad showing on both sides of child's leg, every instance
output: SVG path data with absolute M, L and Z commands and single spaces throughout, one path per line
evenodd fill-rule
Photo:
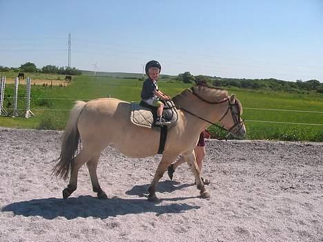
M 172 100 L 164 101 L 165 107 L 163 110 L 164 119 L 170 121 L 167 125 L 168 129 L 172 128 L 178 119 L 177 109 Z M 131 103 L 130 121 L 141 127 L 157 128 L 154 126 L 157 117 L 157 108 L 141 101 L 138 103 Z

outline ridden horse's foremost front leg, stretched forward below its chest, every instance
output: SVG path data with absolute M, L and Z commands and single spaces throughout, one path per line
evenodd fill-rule
M 203 199 L 210 198 L 210 192 L 206 190 L 205 185 L 201 179 L 201 172 L 199 170 L 199 167 L 196 163 L 196 157 L 195 152 L 190 152 L 188 154 L 183 154 L 183 158 L 186 160 L 188 165 L 190 166 L 190 170 L 193 172 L 193 175 L 195 177 L 195 182 L 197 185 L 197 189 L 199 190 L 199 194 Z

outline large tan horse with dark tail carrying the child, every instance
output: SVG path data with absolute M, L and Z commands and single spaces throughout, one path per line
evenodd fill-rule
M 242 105 L 234 94 L 228 96 L 226 90 L 206 86 L 188 88 L 177 94 L 173 101 L 179 109 L 179 118 L 176 125 L 168 130 L 162 159 L 148 187 L 148 200 L 158 201 L 155 194 L 157 183 L 168 165 L 180 154 L 194 174 L 201 197 L 208 198 L 210 193 L 201 180 L 194 154 L 199 134 L 211 123 L 219 121 L 223 128 L 235 136 L 244 136 L 246 128 L 240 117 Z M 121 136 L 120 130 L 123 132 Z M 82 150 L 75 156 L 79 139 Z M 126 101 L 112 98 L 95 99 L 88 103 L 77 101 L 61 141 L 59 162 L 52 172 L 62 179 L 68 179 L 70 174 L 70 182 L 63 190 L 63 198 L 67 199 L 77 189 L 79 168 L 86 163 L 93 191 L 97 192 L 99 198 L 106 199 L 106 193 L 97 179 L 101 151 L 110 146 L 128 157 L 153 156 L 159 148 L 159 128 L 150 129 L 131 123 L 130 103 Z

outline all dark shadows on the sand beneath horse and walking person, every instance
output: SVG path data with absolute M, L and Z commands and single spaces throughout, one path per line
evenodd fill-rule
M 164 186 L 161 185 L 161 188 Z M 138 195 L 146 192 L 148 185 L 135 186 L 127 194 Z M 163 188 L 169 192 L 168 185 Z M 140 195 L 139 195 L 140 196 Z M 144 196 L 144 195 L 143 195 Z M 196 198 L 181 197 L 176 199 L 161 199 L 161 201 L 183 201 L 185 199 Z M 199 206 L 192 206 L 186 203 L 173 203 L 162 205 L 161 203 L 151 203 L 146 197 L 137 199 L 121 199 L 112 197 L 106 200 L 100 200 L 92 196 L 70 197 L 68 199 L 32 199 L 30 201 L 20 201 L 4 206 L 1 212 L 13 212 L 14 215 L 22 216 L 41 216 L 44 219 L 55 219 L 59 216 L 66 219 L 76 219 L 78 217 L 95 217 L 106 219 L 110 216 L 125 214 L 140 214 L 145 212 L 154 212 L 156 216 L 168 213 L 181 213 L 186 210 L 198 209 Z

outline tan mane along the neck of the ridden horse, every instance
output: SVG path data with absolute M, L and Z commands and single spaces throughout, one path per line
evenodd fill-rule
M 192 88 L 187 88 L 183 92 L 173 97 L 175 105 L 177 105 L 177 103 L 179 104 L 182 100 L 185 100 L 190 94 L 192 94 L 192 92 L 197 94 L 198 97 L 210 103 L 217 103 L 219 101 L 222 101 L 223 99 L 228 98 L 228 91 L 226 90 L 213 88 L 206 85 L 196 85 Z

